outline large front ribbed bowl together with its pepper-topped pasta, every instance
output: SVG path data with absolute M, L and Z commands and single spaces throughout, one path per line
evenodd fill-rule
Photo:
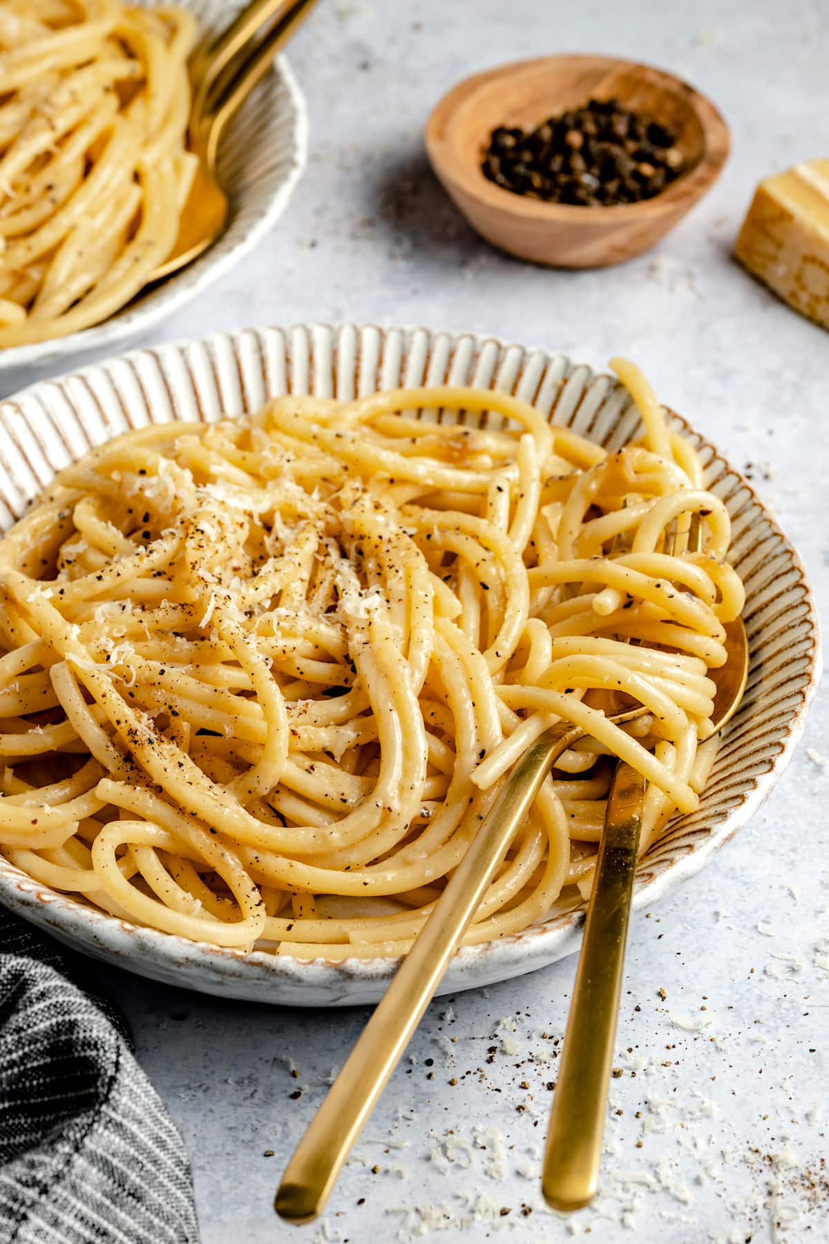
M 578 945 L 615 756 L 648 780 L 635 906 L 702 867 L 792 754 L 814 601 L 751 485 L 619 374 L 300 325 L 0 403 L 0 902 L 168 983 L 369 1001 L 557 719 L 590 735 L 441 989 Z M 609 723 L 620 697 L 645 715 Z

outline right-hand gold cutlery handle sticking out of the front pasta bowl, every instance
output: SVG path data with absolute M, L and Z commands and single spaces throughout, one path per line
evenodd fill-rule
M 645 784 L 616 766 L 599 845 L 547 1133 L 542 1192 L 553 1209 L 587 1205 L 599 1187 Z

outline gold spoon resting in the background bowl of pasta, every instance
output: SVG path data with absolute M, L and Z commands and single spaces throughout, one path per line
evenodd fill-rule
M 176 272 L 198 259 L 225 228 L 230 199 L 216 174 L 219 139 L 280 47 L 295 34 L 317 0 L 254 0 L 190 65 L 193 107 L 188 149 L 199 158 L 193 185 L 179 220 L 173 250 L 150 281 Z M 259 40 L 262 25 L 272 26 Z

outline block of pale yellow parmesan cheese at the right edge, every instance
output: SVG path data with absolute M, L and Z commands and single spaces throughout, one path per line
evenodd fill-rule
M 829 159 L 761 182 L 735 254 L 795 311 L 829 328 Z

